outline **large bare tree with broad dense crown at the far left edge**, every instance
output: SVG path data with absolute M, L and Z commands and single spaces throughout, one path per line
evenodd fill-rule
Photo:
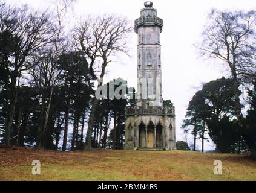
M 6 71 L 8 90 L 7 119 L 5 121 L 5 144 L 10 142 L 15 104 L 18 95 L 19 79 L 24 71 L 33 66 L 33 57 L 38 49 L 50 43 L 53 37 L 53 24 L 47 13 L 39 13 L 22 7 L 0 7 L 0 34 L 5 34 L 1 50 L 1 65 Z

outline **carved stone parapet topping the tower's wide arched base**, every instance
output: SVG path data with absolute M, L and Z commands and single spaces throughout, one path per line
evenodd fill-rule
M 125 116 L 133 115 L 160 115 L 160 116 L 175 116 L 175 107 L 125 107 Z

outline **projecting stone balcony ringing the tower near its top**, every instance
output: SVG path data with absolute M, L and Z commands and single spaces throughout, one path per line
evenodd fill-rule
M 138 28 L 142 25 L 158 26 L 162 32 L 163 19 L 159 17 L 140 17 L 134 21 L 134 30 L 138 33 Z

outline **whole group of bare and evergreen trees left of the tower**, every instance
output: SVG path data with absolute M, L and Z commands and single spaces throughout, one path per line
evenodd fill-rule
M 64 19 L 72 4 L 56 1 L 56 13 L 0 5 L 0 138 L 5 145 L 123 148 L 124 107 L 130 101 L 100 100 L 95 90 L 115 55 L 128 54 L 132 27 L 125 18 L 103 15 L 67 31 Z

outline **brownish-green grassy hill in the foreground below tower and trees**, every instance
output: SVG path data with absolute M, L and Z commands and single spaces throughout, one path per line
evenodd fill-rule
M 33 160 L 41 175 L 31 174 Z M 222 175 L 213 174 L 222 160 Z M 56 152 L 0 148 L 0 180 L 256 180 L 246 155 L 192 151 L 93 150 Z

